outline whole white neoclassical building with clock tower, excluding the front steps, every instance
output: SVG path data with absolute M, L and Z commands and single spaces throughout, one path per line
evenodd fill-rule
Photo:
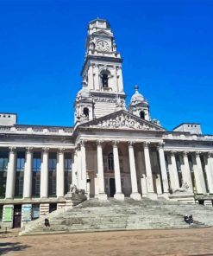
M 64 207 L 71 183 L 100 200 L 212 203 L 213 136 L 199 124 L 166 131 L 150 118 L 138 86 L 126 106 L 122 57 L 105 20 L 89 23 L 81 76 L 73 127 L 17 125 L 16 114 L 0 113 L 4 225 Z

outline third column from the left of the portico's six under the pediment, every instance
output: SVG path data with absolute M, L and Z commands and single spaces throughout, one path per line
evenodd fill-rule
M 113 157 L 114 157 L 114 170 L 115 170 L 115 180 L 116 180 L 116 195 L 114 195 L 114 198 L 118 200 L 124 200 L 124 195 L 122 194 L 122 181 L 121 181 L 117 142 L 114 142 L 113 144 Z

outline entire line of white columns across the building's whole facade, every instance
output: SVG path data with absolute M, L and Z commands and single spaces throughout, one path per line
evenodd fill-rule
M 149 156 L 149 142 L 143 143 L 144 157 L 145 157 L 145 167 L 146 167 L 146 187 L 147 194 L 152 195 L 153 190 L 153 173 L 151 168 L 150 156 Z M 103 141 L 97 141 L 97 172 L 99 180 L 99 194 L 100 199 L 106 199 L 107 195 L 104 193 L 104 176 L 103 176 Z M 165 150 L 163 144 L 158 145 L 159 159 L 160 159 L 160 172 L 161 172 L 161 182 L 164 194 L 169 191 L 168 179 L 166 173 L 166 161 L 165 161 Z M 48 197 L 48 148 L 43 149 L 42 161 L 41 161 L 41 198 Z M 23 183 L 23 198 L 30 198 L 32 194 L 32 162 L 33 162 L 33 148 L 28 148 L 26 151 L 26 161 L 24 169 L 24 183 Z M 169 164 L 169 175 L 171 179 L 171 189 L 179 189 L 179 176 L 177 170 L 177 164 L 175 159 L 175 152 L 170 151 L 166 154 L 170 155 L 171 164 Z M 191 170 L 188 161 L 188 152 L 183 154 L 183 170 L 182 176 L 183 181 L 187 182 L 190 187 L 191 192 L 193 191 L 192 181 L 191 181 Z M 114 155 L 114 169 L 115 169 L 115 182 L 116 182 L 116 199 L 123 199 L 122 185 L 121 185 L 121 173 L 119 164 L 119 153 L 118 153 L 118 142 L 113 143 L 113 155 Z M 135 169 L 135 153 L 134 153 L 134 143 L 128 143 L 128 157 L 129 157 L 129 167 L 130 167 L 130 177 L 132 185 L 132 195 L 131 197 L 135 199 L 140 199 L 141 195 L 138 193 L 137 187 L 137 176 Z M 201 160 L 199 157 L 199 152 L 196 153 L 196 163 L 194 165 L 194 176 L 197 186 L 197 194 L 205 194 L 205 183 L 204 183 L 204 173 L 202 169 Z M 58 161 L 56 166 L 56 195 L 57 197 L 64 196 L 64 149 L 58 150 Z M 78 168 L 78 176 L 81 183 L 79 184 L 79 189 L 86 189 L 86 152 L 85 152 L 85 141 L 81 141 L 80 150 L 78 150 L 78 155 L 74 154 L 74 170 Z M 80 171 L 79 171 L 80 170 Z M 208 185 L 210 189 L 210 194 L 213 194 L 213 158 L 212 155 L 208 155 L 208 164 L 206 165 L 206 176 L 208 180 Z M 7 199 L 12 199 L 14 197 L 15 190 L 15 177 L 16 177 L 16 148 L 10 148 L 9 150 L 9 164 L 8 173 L 6 181 L 6 195 Z M 75 176 L 73 176 L 75 177 Z M 76 183 L 75 181 L 73 181 Z

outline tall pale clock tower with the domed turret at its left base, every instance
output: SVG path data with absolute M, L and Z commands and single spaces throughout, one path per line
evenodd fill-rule
M 86 99 L 75 100 L 75 121 L 100 118 L 125 108 L 126 94 L 122 83 L 122 57 L 117 52 L 114 35 L 106 20 L 89 23 L 85 43 L 85 63 L 81 72 Z M 78 93 L 78 94 L 79 94 Z M 82 104 L 84 105 L 82 107 Z M 83 103 L 84 102 L 84 103 Z M 89 105 L 86 106 L 85 102 Z

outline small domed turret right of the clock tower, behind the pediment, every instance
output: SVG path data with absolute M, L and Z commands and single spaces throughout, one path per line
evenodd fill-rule
M 135 86 L 135 93 L 133 94 L 128 112 L 133 113 L 135 116 L 146 119 L 149 121 L 149 106 L 147 99 L 138 91 L 138 86 Z

